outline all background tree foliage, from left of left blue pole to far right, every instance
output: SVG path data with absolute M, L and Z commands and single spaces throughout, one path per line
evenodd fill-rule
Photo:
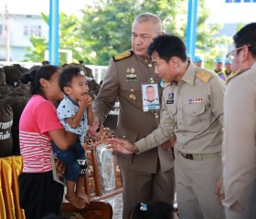
M 151 12 L 163 20 L 165 33 L 186 39 L 187 0 L 98 0 L 94 5 L 81 9 L 82 16 L 60 14 L 59 47 L 73 52 L 73 61 L 83 60 L 91 65 L 108 65 L 110 57 L 131 47 L 131 29 L 135 16 Z M 42 15 L 46 22 L 48 17 Z M 208 63 L 228 47 L 229 37 L 214 37 L 221 26 L 208 25 L 209 11 L 204 0 L 198 1 L 197 54 L 203 54 Z M 27 57 L 42 57 L 41 49 L 47 48 L 46 39 L 31 38 L 33 48 Z M 38 45 L 37 45 L 38 44 Z M 44 44 L 44 46 L 42 45 Z M 38 60 L 36 60 L 38 61 Z M 65 58 L 61 57 L 63 64 Z

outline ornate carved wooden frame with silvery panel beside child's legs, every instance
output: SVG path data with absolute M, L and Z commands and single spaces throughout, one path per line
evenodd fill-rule
M 88 160 L 85 189 L 91 200 L 122 193 L 122 175 L 116 157 L 104 144 L 104 140 L 112 137 L 112 130 L 101 127 L 97 136 L 85 138 L 83 147 Z

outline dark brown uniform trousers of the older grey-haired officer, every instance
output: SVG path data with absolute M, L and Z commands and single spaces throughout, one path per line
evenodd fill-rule
M 152 201 L 174 202 L 174 169 L 161 172 L 157 167 L 155 173 L 134 172 L 125 168 L 123 177 L 123 219 L 128 219 L 136 203 Z M 136 186 L 134 186 L 136 185 Z

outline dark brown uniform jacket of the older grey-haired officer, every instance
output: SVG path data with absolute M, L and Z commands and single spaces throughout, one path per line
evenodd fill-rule
M 159 124 L 160 110 L 143 110 L 142 83 L 149 83 L 150 78 L 158 84 L 159 96 L 162 88 L 160 78 L 155 74 L 154 65 L 143 57 L 132 55 L 126 57 L 126 51 L 121 54 L 120 60 L 111 58 L 110 65 L 101 85 L 100 93 L 93 101 L 93 111 L 101 122 L 106 119 L 116 99 L 120 102 L 120 112 L 115 135 L 128 141 L 138 141 Z M 125 155 L 118 153 L 118 162 L 121 166 L 137 172 L 156 172 L 157 162 L 160 161 L 161 171 L 173 168 L 172 152 L 163 150 L 162 146 L 147 151 L 144 154 Z

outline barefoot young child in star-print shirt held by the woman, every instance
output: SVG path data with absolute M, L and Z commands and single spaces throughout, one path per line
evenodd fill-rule
M 93 122 L 92 100 L 88 95 L 88 83 L 83 71 L 73 65 L 63 68 L 59 77 L 59 88 L 65 97 L 59 103 L 58 117 L 65 130 L 79 135 L 78 141 L 68 150 L 60 150 L 52 142 L 54 154 L 66 165 L 67 181 L 66 199 L 77 208 L 89 203 L 89 197 L 84 192 L 84 175 L 87 169 L 85 151 L 81 145 L 88 126 Z

